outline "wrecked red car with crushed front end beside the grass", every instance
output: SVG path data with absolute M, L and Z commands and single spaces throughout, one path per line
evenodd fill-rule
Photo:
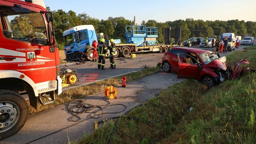
M 162 59 L 164 72 L 174 71 L 177 78 L 191 78 L 213 87 L 230 79 L 233 71 L 226 65 L 226 56 L 220 57 L 211 51 L 174 47 Z

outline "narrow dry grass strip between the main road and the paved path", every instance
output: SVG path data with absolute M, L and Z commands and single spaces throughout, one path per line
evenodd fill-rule
M 154 73 L 160 72 L 160 71 L 161 71 L 161 68 L 159 66 L 155 66 L 155 67 L 145 68 L 143 70 L 133 72 L 130 74 L 126 74 L 126 82 L 137 80 L 139 78 L 149 76 L 151 74 L 154 74 Z M 122 80 L 122 76 L 119 76 L 116 78 L 110 78 L 108 80 L 102 80 L 102 81 L 99 81 L 99 82 L 96 82 L 96 83 L 93 83 L 90 85 L 85 85 L 85 86 L 77 87 L 77 88 L 70 89 L 67 91 L 63 91 L 60 95 L 55 97 L 56 100 L 52 104 L 43 106 L 38 102 L 37 110 L 35 110 L 35 108 L 30 106 L 29 101 L 28 101 L 29 114 L 35 114 L 35 113 L 44 111 L 48 108 L 52 108 L 54 106 L 65 104 L 72 100 L 77 100 L 79 98 L 83 98 L 88 95 L 93 95 L 100 91 L 104 91 L 106 89 L 106 87 L 108 87 L 109 85 L 119 86 L 119 85 L 121 85 L 121 80 Z

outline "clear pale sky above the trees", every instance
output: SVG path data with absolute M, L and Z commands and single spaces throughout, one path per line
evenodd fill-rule
M 43 0 L 51 11 L 86 13 L 99 20 L 124 17 L 136 23 L 193 18 L 204 21 L 256 21 L 256 0 Z

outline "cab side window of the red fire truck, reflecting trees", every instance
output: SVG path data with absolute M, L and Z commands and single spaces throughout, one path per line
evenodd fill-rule
M 47 44 L 46 25 L 41 13 L 15 14 L 10 7 L 4 7 L 5 9 L 1 9 L 0 16 L 2 32 L 5 37 L 30 43 Z M 4 15 L 2 15 L 3 13 Z

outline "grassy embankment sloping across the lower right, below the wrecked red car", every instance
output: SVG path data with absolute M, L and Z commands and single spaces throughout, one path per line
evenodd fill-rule
M 236 62 L 247 59 L 245 67 L 256 69 L 256 46 L 247 51 L 235 51 L 227 56 L 233 68 Z M 189 111 L 189 108 L 193 110 Z M 164 118 L 160 118 L 160 109 Z M 256 142 L 256 73 L 241 79 L 226 80 L 211 89 L 195 80 L 184 80 L 162 90 L 158 97 L 132 109 L 125 116 L 140 120 L 119 119 L 111 143 L 246 143 Z M 78 144 L 107 143 L 115 121 L 106 123 L 92 134 L 85 135 Z

